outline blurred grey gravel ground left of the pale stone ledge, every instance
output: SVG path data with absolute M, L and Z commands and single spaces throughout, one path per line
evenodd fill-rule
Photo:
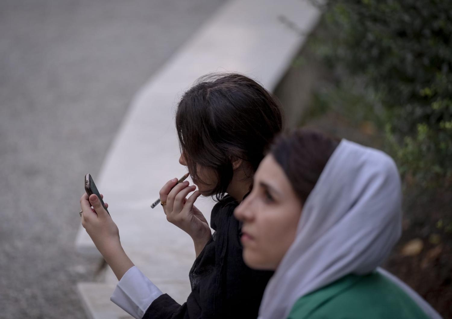
M 75 284 L 99 259 L 74 248 L 84 174 L 223 2 L 0 1 L 0 318 L 86 318 Z

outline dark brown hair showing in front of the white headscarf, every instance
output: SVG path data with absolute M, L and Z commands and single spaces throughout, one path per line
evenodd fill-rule
M 339 140 L 311 129 L 278 136 L 270 153 L 282 167 L 302 203 L 306 202 Z

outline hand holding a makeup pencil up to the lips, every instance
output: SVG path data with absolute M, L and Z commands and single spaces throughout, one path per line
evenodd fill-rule
M 188 181 L 177 185 L 176 183 L 177 178 L 171 179 L 160 189 L 160 201 L 166 201 L 166 204 L 163 205 L 166 219 L 190 235 L 197 250 L 196 255 L 198 255 L 198 250 L 202 250 L 212 237 L 206 218 L 193 205 L 201 193 L 193 192 L 196 186 L 189 186 Z M 190 192 L 193 194 L 187 199 Z

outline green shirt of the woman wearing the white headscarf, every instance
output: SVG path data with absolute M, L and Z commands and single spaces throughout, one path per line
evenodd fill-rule
M 428 319 L 399 286 L 374 272 L 348 275 L 297 300 L 287 319 Z

